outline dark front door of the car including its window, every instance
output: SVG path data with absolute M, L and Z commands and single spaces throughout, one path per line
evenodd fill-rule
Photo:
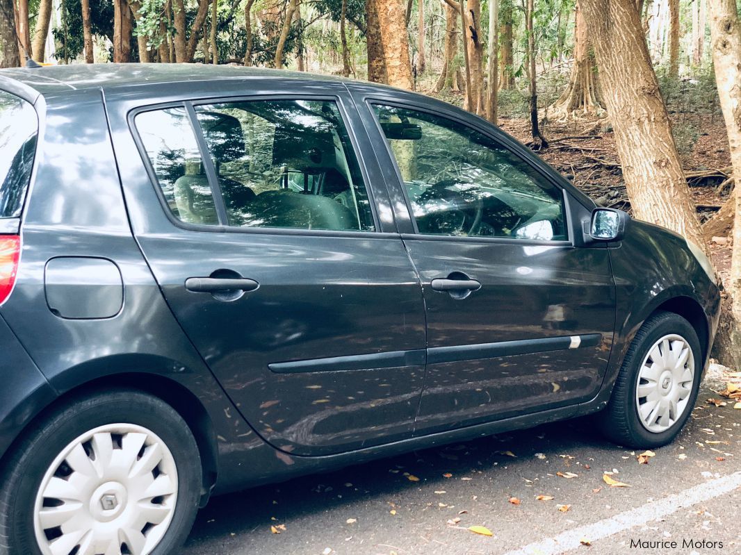
M 608 249 L 576 246 L 576 198 L 473 118 L 403 98 L 358 101 L 379 130 L 379 157 L 396 168 L 397 221 L 424 289 L 416 433 L 594 397 L 615 288 Z

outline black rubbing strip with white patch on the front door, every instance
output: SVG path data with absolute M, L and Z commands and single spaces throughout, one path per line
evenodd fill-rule
M 576 337 L 579 341 L 574 341 Z M 540 337 L 501 341 L 499 343 L 477 343 L 476 345 L 455 345 L 451 347 L 432 347 L 428 349 L 427 363 L 453 363 L 460 360 L 479 360 L 495 357 L 510 357 L 515 354 L 542 353 L 565 349 L 594 347 L 602 340 L 601 334 L 566 335 L 564 337 Z M 576 343 L 576 346 L 574 346 Z

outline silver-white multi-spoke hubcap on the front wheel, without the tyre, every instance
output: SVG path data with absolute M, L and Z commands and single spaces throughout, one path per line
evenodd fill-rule
M 671 428 L 687 411 L 694 384 L 692 348 L 677 334 L 659 339 L 638 372 L 636 406 L 641 424 L 659 433 Z

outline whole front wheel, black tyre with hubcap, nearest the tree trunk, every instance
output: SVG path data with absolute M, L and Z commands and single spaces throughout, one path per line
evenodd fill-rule
M 654 351 L 659 343 L 659 351 Z M 683 357 L 685 349 L 690 352 L 682 364 L 682 358 L 673 357 Z M 654 357 L 658 360 L 654 361 Z M 702 349 L 697 333 L 678 314 L 657 312 L 643 323 L 625 354 L 610 402 L 598 415 L 599 428 L 609 440 L 630 448 L 671 443 L 694 408 L 701 379 Z M 682 394 L 685 397 L 677 401 Z M 659 403 L 654 403 L 656 400 Z M 676 403 L 673 415 L 668 408 L 672 400 Z M 652 424 L 651 420 L 657 421 Z

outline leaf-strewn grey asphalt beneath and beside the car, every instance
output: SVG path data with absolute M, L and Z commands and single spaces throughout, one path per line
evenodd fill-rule
M 741 410 L 713 388 L 648 464 L 587 419 L 543 425 L 216 497 L 182 553 L 741 554 Z

